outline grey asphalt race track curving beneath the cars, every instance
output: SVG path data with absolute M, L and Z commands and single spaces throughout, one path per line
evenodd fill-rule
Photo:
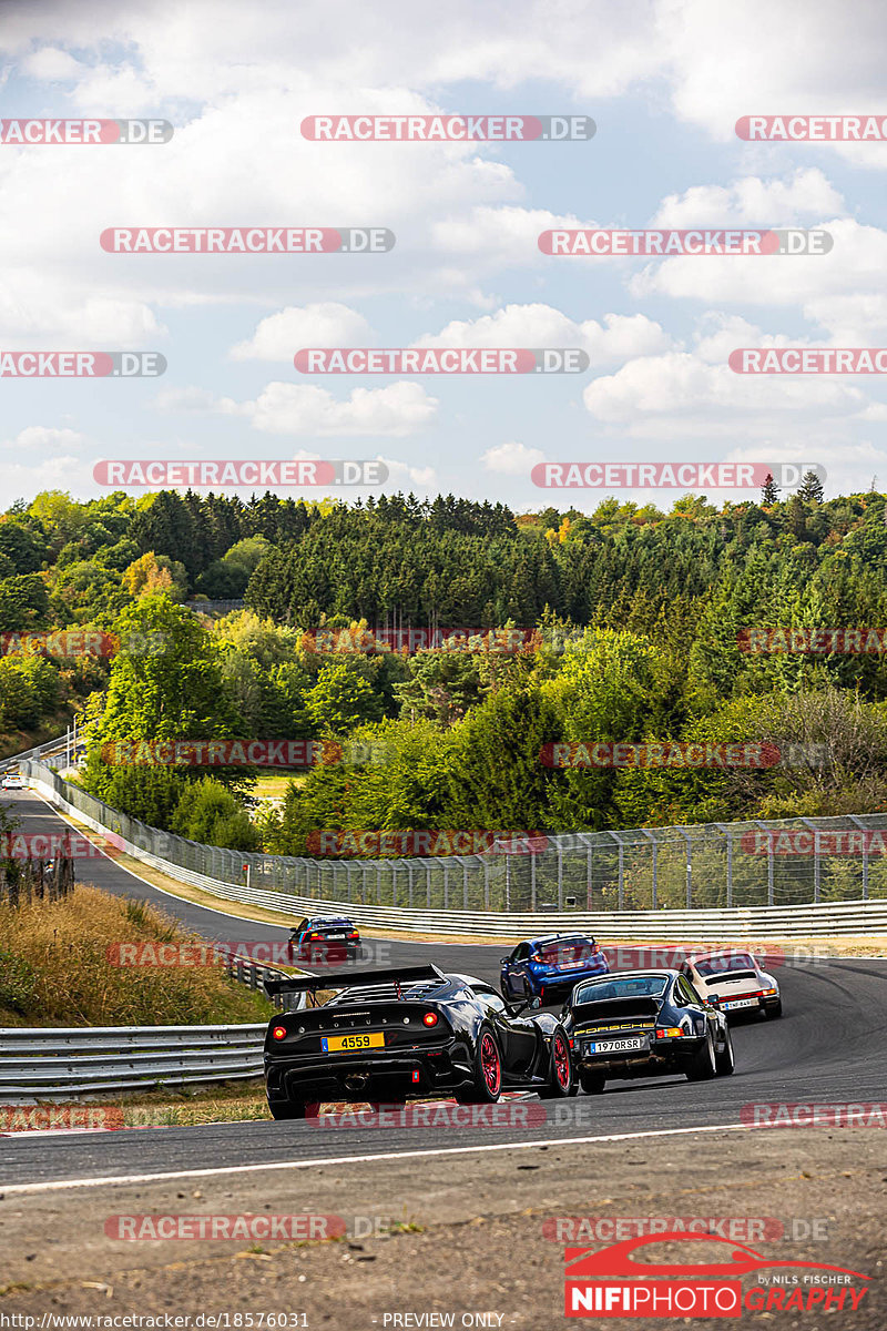
M 61 820 L 35 795 L 23 792 L 4 804 L 15 805 L 21 831 L 60 829 Z M 156 902 L 207 938 L 279 940 L 289 933 L 283 926 L 242 921 L 180 901 L 104 857 L 88 861 L 82 876 L 109 892 Z M 390 948 L 386 960 L 434 960 L 443 969 L 493 982 L 507 950 L 504 944 L 399 941 L 391 941 Z M 549 1105 L 548 1121 L 536 1126 L 324 1131 L 310 1122 L 261 1121 L 100 1134 L 13 1134 L 0 1138 L 0 1186 L 17 1191 L 23 1185 L 64 1187 L 64 1181 L 231 1169 L 251 1173 L 275 1162 L 311 1167 L 332 1159 L 378 1159 L 388 1153 L 461 1153 L 503 1143 L 717 1129 L 739 1125 L 742 1106 L 749 1103 L 887 1101 L 887 961 L 819 960 L 781 966 L 777 973 L 785 1016 L 733 1026 L 733 1077 L 694 1085 L 684 1078 L 613 1082 L 604 1095 L 580 1094 Z

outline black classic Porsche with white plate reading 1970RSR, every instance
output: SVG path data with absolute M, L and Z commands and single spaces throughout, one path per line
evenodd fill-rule
M 727 1077 L 733 1042 L 722 1012 L 678 970 L 622 970 L 577 985 L 561 1013 L 582 1090 L 610 1079 L 684 1073 Z

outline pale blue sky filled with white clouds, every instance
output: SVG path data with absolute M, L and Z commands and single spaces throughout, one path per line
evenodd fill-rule
M 0 118 L 162 118 L 158 144 L 0 142 L 0 357 L 149 351 L 161 377 L 0 377 L 0 508 L 100 459 L 382 459 L 382 488 L 593 511 L 540 462 L 824 467 L 887 488 L 883 375 L 739 375 L 738 347 L 887 346 L 887 117 L 850 0 L 5 0 Z M 586 141 L 318 142 L 317 114 L 581 114 Z M 347 254 L 124 254 L 108 228 L 388 228 Z M 549 256 L 557 228 L 824 229 L 827 254 Z M 578 374 L 302 374 L 305 347 L 578 347 Z M 0 362 L 1 363 L 1 362 Z M 134 495 L 144 490 L 133 488 Z M 231 492 L 231 491 L 229 491 Z M 242 496 L 250 490 L 241 488 Z M 281 495 L 320 498 L 315 488 Z M 330 492 L 328 490 L 324 492 Z M 703 491 L 714 502 L 757 490 Z

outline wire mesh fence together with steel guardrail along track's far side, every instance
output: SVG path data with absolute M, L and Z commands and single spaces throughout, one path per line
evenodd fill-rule
M 52 804 L 182 882 L 285 914 L 512 937 L 555 926 L 601 938 L 887 933 L 887 815 L 560 833 L 541 853 L 311 860 L 199 845 L 118 813 L 40 763 Z

